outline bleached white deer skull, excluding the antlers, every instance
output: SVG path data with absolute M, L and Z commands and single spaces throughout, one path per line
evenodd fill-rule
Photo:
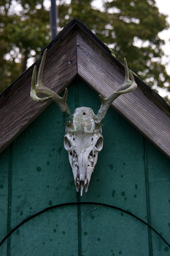
M 91 108 L 76 108 L 73 120 L 66 125 L 64 148 L 69 153 L 76 191 L 81 187 L 88 190 L 90 178 L 98 159 L 98 152 L 103 147 L 101 125 L 94 121 L 95 114 Z

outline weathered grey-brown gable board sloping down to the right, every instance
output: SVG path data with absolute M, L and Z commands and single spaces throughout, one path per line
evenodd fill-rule
M 90 41 L 84 41 L 82 35 L 77 35 L 77 42 L 78 75 L 93 90 L 104 97 L 109 96 L 124 81 L 124 75 Z M 142 93 L 140 86 L 132 93 L 121 95 L 112 107 L 170 157 L 170 118 Z

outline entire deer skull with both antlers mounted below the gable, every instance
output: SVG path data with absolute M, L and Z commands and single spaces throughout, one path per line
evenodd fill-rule
M 81 188 L 81 196 L 83 189 L 87 192 L 92 172 L 98 160 L 98 152 L 103 148 L 103 136 L 101 121 L 112 102 L 121 94 L 129 93 L 137 87 L 135 79 L 131 70 L 128 70 L 127 61 L 124 58 L 125 79 L 118 89 L 113 92 L 108 98 L 99 95 L 101 99 L 101 107 L 97 113 L 94 114 L 91 108 L 81 107 L 76 108 L 71 115 L 69 107 L 66 103 L 67 89 L 63 97 L 50 90 L 43 85 L 43 67 L 46 58 L 46 51 L 40 63 L 40 69 L 37 76 L 36 84 L 36 70 L 34 67 L 32 74 L 32 87 L 30 96 L 36 102 L 44 102 L 52 99 L 63 112 L 64 123 L 66 125 L 66 135 L 64 136 L 64 148 L 69 154 L 69 163 L 72 167 L 74 176 L 75 188 L 78 192 Z M 130 80 L 131 79 L 131 80 Z M 47 97 L 39 98 L 38 93 Z

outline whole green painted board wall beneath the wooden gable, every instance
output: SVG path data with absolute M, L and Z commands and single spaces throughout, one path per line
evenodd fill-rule
M 68 88 L 71 113 L 97 113 L 100 99 L 82 81 Z M 140 122 L 140 120 L 139 120 Z M 112 108 L 89 190 L 75 192 L 63 148 L 62 114 L 53 103 L 0 155 L 0 241 L 23 220 L 64 203 L 96 202 L 148 222 L 170 244 L 170 160 Z M 0 247 L 6 256 L 167 256 L 170 247 L 127 213 L 98 205 L 50 209 L 19 227 Z

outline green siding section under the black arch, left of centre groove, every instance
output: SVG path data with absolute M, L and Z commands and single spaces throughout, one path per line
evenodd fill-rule
M 11 256 L 16 255 L 77 256 L 77 207 L 49 210 L 21 226 L 11 239 Z

